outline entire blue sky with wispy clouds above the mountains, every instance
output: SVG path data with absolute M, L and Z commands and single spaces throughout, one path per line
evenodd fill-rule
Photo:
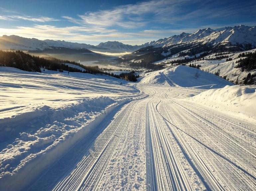
M 140 45 L 200 28 L 256 25 L 255 0 L 0 0 L 0 36 Z

